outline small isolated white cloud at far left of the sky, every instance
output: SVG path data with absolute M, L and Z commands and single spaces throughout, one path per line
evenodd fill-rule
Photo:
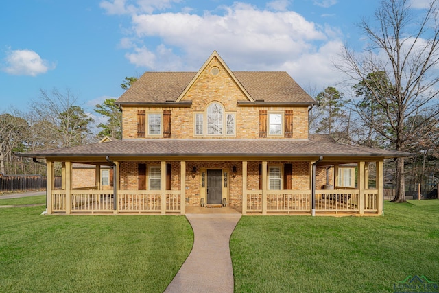
M 46 73 L 55 65 L 42 59 L 32 50 L 10 50 L 5 58 L 6 66 L 3 71 L 12 75 L 30 75 Z

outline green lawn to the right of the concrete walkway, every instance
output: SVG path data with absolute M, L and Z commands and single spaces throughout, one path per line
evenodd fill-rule
M 439 200 L 385 203 L 383 217 L 246 216 L 230 239 L 235 292 L 394 292 L 439 281 Z

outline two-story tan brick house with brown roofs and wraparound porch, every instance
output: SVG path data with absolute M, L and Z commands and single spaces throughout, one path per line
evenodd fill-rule
M 222 204 L 243 214 L 381 214 L 383 160 L 408 155 L 310 135 L 316 102 L 287 73 L 230 71 L 216 51 L 198 72 L 143 74 L 117 104 L 122 140 L 19 154 L 47 161 L 47 213 L 185 214 Z M 56 162 L 62 190 L 51 180 Z M 93 187 L 72 188 L 73 163 L 95 166 Z M 353 163 L 357 187 L 337 186 L 339 166 Z M 114 170 L 110 191 L 99 186 L 102 166 Z

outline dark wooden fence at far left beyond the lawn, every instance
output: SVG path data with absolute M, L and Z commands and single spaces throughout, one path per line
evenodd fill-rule
M 0 174 L 0 192 L 42 190 L 46 186 L 46 176 Z M 61 176 L 55 176 L 55 188 L 60 187 Z

